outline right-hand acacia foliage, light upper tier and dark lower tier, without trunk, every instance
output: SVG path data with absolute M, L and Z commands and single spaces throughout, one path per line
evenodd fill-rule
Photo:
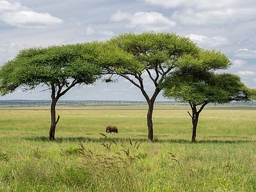
M 255 91 L 246 88 L 234 74 L 215 74 L 215 70 L 232 65 L 225 54 L 215 50 L 201 50 L 198 54 L 183 55 L 180 68 L 162 84 L 166 98 L 191 102 L 193 105 L 225 103 L 231 100 L 252 100 Z

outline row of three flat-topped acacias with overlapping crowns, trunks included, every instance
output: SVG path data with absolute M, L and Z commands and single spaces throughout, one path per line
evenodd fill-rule
M 47 86 L 51 92 L 49 140 L 54 140 L 60 97 L 77 84 L 93 84 L 100 78 L 111 83 L 114 76 L 124 77 L 147 101 L 148 141 L 153 141 L 154 135 L 154 103 L 163 90 L 164 97 L 191 106 L 194 142 L 198 116 L 205 105 L 255 99 L 256 91 L 246 87 L 239 76 L 220 72 L 230 65 L 220 51 L 201 49 L 175 33 L 124 33 L 102 42 L 22 49 L 1 66 L 0 92 L 3 96 L 19 88 L 27 92 Z M 152 94 L 146 78 L 154 87 Z

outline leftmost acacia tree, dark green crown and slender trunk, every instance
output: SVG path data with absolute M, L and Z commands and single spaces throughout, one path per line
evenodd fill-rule
M 102 68 L 84 60 L 81 55 L 83 44 L 33 47 L 23 49 L 12 60 L 0 68 L 1 95 L 34 90 L 39 85 L 51 91 L 51 128 L 49 140 L 54 140 L 56 103 L 76 84 L 92 84 L 100 77 Z

